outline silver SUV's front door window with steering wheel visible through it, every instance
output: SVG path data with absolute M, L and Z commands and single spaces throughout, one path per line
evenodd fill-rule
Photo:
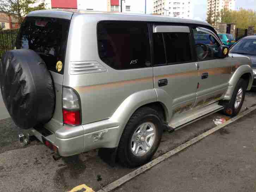
M 220 44 L 215 37 L 210 33 L 197 31 L 196 29 L 193 29 L 193 35 L 197 59 L 199 61 L 217 58 Z

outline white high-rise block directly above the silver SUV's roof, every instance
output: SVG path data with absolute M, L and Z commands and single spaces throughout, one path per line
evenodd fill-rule
M 153 0 L 153 14 L 193 18 L 192 0 Z

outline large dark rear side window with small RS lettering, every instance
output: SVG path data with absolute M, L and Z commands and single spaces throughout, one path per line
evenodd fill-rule
M 151 66 L 147 24 L 100 22 L 98 51 L 100 59 L 115 69 Z

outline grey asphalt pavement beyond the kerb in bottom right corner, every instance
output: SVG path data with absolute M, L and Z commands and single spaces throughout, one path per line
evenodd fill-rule
M 255 192 L 256 111 L 128 181 L 115 192 Z

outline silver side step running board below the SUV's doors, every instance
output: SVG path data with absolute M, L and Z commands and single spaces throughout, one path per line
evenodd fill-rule
M 189 125 L 199 119 L 207 117 L 207 116 L 209 116 L 213 113 L 216 113 L 222 109 L 224 109 L 223 106 L 218 105 L 218 104 L 212 104 L 212 105 L 203 107 L 202 109 L 200 109 L 198 111 L 191 111 L 187 115 L 185 115 L 185 117 L 183 117 L 183 118 L 174 118 L 167 125 L 167 130 L 168 130 L 168 132 L 176 131 L 186 125 Z

